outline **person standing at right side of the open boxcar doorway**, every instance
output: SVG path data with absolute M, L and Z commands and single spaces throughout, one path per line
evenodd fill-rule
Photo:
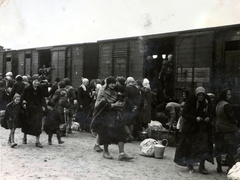
M 173 55 L 169 54 L 168 59 L 163 61 L 162 69 L 158 75 L 162 83 L 162 89 L 167 99 L 172 99 L 174 94 Z

